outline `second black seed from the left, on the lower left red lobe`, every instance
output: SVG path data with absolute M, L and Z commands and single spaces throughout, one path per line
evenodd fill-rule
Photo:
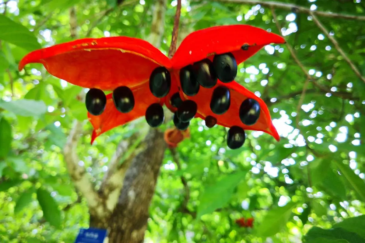
M 131 111 L 134 107 L 132 90 L 127 86 L 120 86 L 113 91 L 113 102 L 115 108 L 122 113 Z

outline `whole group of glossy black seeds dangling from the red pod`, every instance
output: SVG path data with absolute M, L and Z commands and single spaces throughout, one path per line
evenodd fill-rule
M 242 50 L 248 50 L 247 44 Z M 230 52 L 215 55 L 213 61 L 203 59 L 180 70 L 181 89 L 187 96 L 194 96 L 199 92 L 200 86 L 213 88 L 218 79 L 223 83 L 232 82 L 237 75 L 237 62 Z M 171 88 L 170 72 L 165 67 L 153 70 L 149 79 L 151 93 L 157 98 L 165 97 Z M 90 89 L 86 95 L 86 107 L 90 114 L 101 115 L 105 110 L 106 96 L 100 89 Z M 120 86 L 113 91 L 113 102 L 121 113 L 130 112 L 135 105 L 133 93 L 127 86 Z M 183 101 L 179 93 L 170 99 L 171 105 L 177 108 L 173 122 L 177 129 L 188 128 L 191 119 L 197 112 L 197 104 L 192 100 Z M 231 105 L 231 93 L 227 87 L 216 86 L 212 92 L 210 109 L 214 114 L 222 115 Z M 239 118 L 245 125 L 254 125 L 260 116 L 260 105 L 254 99 L 245 99 L 239 107 Z M 151 127 L 156 128 L 164 122 L 164 109 L 159 103 L 153 103 L 146 110 L 146 121 Z M 234 119 L 234 118 L 233 118 Z M 208 115 L 205 125 L 212 128 L 217 124 L 217 119 Z M 227 134 L 227 146 L 231 149 L 240 148 L 245 142 L 245 131 L 239 126 L 232 126 Z

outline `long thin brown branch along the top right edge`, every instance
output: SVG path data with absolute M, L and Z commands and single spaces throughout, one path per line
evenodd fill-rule
M 260 0 L 214 0 L 220 2 L 227 2 L 227 3 L 241 3 L 241 4 L 260 4 L 261 6 L 269 7 L 269 8 L 281 8 L 286 9 L 293 12 L 302 12 L 311 15 L 314 13 L 318 16 L 324 17 L 331 17 L 331 18 L 338 18 L 338 19 L 350 19 L 350 20 L 359 20 L 365 21 L 365 16 L 360 15 L 349 15 L 349 14 L 342 14 L 342 13 L 330 13 L 330 12 L 323 12 L 323 11 L 311 11 L 311 9 L 302 7 L 300 5 L 290 4 L 290 3 L 281 3 L 276 1 L 260 1 Z

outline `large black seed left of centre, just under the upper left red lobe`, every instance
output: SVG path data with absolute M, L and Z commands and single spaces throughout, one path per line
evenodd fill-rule
M 169 70 L 165 67 L 157 67 L 152 71 L 150 76 L 150 91 L 157 97 L 165 97 L 171 87 L 171 76 Z

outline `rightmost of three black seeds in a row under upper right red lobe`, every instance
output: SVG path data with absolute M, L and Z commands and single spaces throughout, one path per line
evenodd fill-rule
M 215 55 L 213 58 L 215 73 L 223 83 L 232 82 L 237 75 L 237 62 L 231 53 Z

